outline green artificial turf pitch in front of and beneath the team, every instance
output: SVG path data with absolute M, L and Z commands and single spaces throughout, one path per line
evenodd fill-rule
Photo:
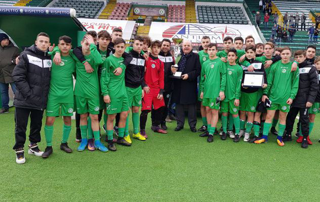
M 182 131 L 174 132 L 173 122 L 168 134 L 154 134 L 148 119 L 147 141 L 133 139 L 131 147 L 116 145 L 116 152 L 107 153 L 76 151 L 72 121 L 71 154 L 59 149 L 63 122 L 57 118 L 53 155 L 42 159 L 26 152 L 23 165 L 12 150 L 14 108 L 0 120 L 0 201 L 318 201 L 319 118 L 308 149 L 295 141 L 279 147 L 272 134 L 261 145 L 218 136 L 208 143 L 187 122 Z M 43 130 L 42 138 L 44 150 Z

